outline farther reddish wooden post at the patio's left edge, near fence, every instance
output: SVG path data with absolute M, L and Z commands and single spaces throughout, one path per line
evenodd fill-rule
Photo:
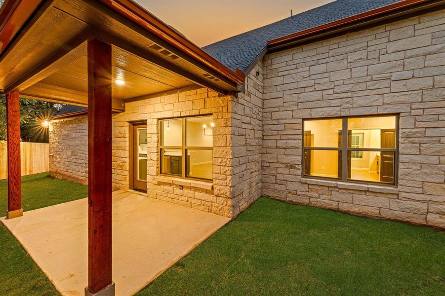
M 6 94 L 8 140 L 8 210 L 6 218 L 23 216 L 20 169 L 20 102 L 19 93 Z

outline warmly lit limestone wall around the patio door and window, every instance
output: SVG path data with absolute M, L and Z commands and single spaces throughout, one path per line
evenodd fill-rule
M 113 117 L 113 181 L 129 186 L 129 123 L 147 121 L 148 196 L 214 214 L 232 217 L 231 139 L 232 96 L 218 96 L 206 88 L 176 90 L 162 96 L 125 103 L 125 112 Z M 159 176 L 159 119 L 213 114 L 213 184 Z M 182 189 L 181 187 L 182 186 Z

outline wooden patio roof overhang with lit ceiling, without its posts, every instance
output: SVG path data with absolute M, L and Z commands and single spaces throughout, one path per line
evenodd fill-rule
M 194 84 L 225 95 L 244 81 L 242 71 L 233 72 L 132 0 L 6 0 L 0 92 L 86 106 L 92 38 L 112 45 L 114 111 L 126 100 Z

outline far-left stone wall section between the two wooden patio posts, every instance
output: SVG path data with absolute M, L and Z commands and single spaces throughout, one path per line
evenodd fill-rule
M 49 126 L 49 172 L 52 176 L 88 184 L 86 115 L 52 122 Z

